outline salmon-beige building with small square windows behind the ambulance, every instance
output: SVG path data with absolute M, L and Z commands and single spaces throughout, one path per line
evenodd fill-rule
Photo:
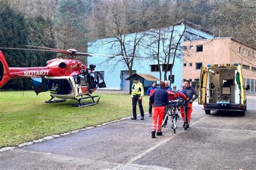
M 199 86 L 201 66 L 239 63 L 245 85 L 250 85 L 248 94 L 256 94 L 256 49 L 233 38 L 184 41 L 183 81 L 188 79 L 192 86 Z

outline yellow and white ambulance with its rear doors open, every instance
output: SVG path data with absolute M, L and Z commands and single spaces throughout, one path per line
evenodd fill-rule
M 205 114 L 211 110 L 246 111 L 246 90 L 239 63 L 202 66 L 198 89 L 198 104 L 203 104 Z

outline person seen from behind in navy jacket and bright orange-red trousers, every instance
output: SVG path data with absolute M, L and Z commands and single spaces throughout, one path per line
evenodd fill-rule
M 156 138 L 157 136 L 162 135 L 161 125 L 163 123 L 165 105 L 169 102 L 169 96 L 167 91 L 165 90 L 165 83 L 160 83 L 160 89 L 154 91 L 154 93 L 150 96 L 150 102 L 154 103 L 154 114 L 153 114 L 153 122 L 151 126 L 151 137 Z M 157 122 L 158 119 L 158 122 Z

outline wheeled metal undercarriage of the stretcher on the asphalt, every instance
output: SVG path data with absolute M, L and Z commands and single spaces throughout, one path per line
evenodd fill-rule
M 172 126 L 173 133 L 176 133 L 177 129 L 177 117 L 176 114 L 179 112 L 179 107 L 184 107 L 184 114 L 185 114 L 185 124 L 183 126 L 184 130 L 187 130 L 187 104 L 188 101 L 184 98 L 180 98 L 177 100 L 169 101 L 169 104 L 165 108 L 165 116 L 162 127 L 164 126 L 164 122 L 168 119 L 169 116 L 172 118 Z

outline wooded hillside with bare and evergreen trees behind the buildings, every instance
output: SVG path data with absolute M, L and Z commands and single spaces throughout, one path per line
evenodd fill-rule
M 1 47 L 37 45 L 86 52 L 90 40 L 158 29 L 181 19 L 213 31 L 215 37 L 233 37 L 256 47 L 253 0 L 0 0 L 0 3 Z M 42 66 L 54 56 L 6 54 L 12 67 L 32 63 Z M 18 88 L 22 83 L 28 84 L 13 80 L 5 88 Z

